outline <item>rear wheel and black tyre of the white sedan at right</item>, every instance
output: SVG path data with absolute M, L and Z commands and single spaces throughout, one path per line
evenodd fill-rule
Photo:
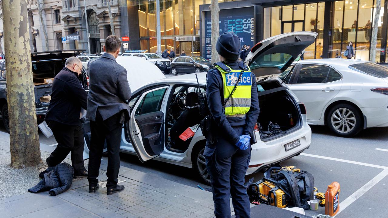
M 352 137 L 362 130 L 362 114 L 350 104 L 337 104 L 326 116 L 329 129 L 338 136 Z

